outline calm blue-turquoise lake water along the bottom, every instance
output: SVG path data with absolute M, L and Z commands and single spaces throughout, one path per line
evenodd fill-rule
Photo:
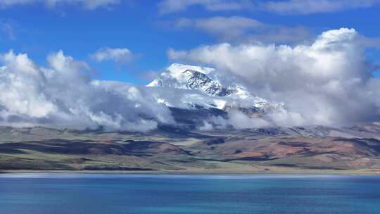
M 380 177 L 0 175 L 1 214 L 380 213 Z

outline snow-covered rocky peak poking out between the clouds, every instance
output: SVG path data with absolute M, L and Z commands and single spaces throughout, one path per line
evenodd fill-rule
M 227 81 L 223 80 L 222 75 L 218 74 L 214 68 L 175 63 L 147 87 L 183 89 L 184 97 L 189 98 L 187 102 L 202 107 L 255 108 L 260 111 L 278 105 L 255 96 L 243 84 L 226 83 Z M 196 96 L 194 94 L 194 96 L 189 96 L 191 93 L 196 93 Z M 158 99 L 161 103 L 167 103 L 163 100 L 165 100 L 163 97 Z M 170 106 L 176 105 L 170 103 Z

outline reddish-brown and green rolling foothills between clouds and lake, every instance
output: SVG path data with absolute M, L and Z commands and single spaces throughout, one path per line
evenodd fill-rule
M 380 171 L 380 126 L 186 132 L 1 127 L 0 170 Z

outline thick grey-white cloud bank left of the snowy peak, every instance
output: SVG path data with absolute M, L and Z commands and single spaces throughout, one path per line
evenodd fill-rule
M 0 55 L 1 125 L 148 131 L 173 122 L 144 87 L 91 80 L 89 65 L 63 51 L 48 63 L 39 67 L 13 51 Z

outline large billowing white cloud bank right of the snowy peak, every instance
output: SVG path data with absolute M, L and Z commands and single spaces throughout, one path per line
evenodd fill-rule
M 363 52 L 360 35 L 341 28 L 310 45 L 222 43 L 168 55 L 236 75 L 258 96 L 283 102 L 265 115 L 275 125 L 341 125 L 379 119 L 380 80 Z

